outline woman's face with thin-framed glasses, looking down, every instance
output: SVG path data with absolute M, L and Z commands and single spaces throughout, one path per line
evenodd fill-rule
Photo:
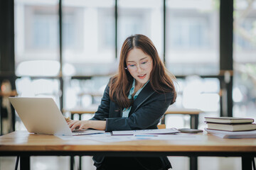
M 142 50 L 134 48 L 127 55 L 127 69 L 136 80 L 137 85 L 144 85 L 149 80 L 153 69 L 153 61 Z

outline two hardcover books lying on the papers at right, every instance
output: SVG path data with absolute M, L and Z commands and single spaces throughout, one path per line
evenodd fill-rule
M 207 128 L 211 130 L 225 131 L 245 131 L 256 130 L 256 124 L 252 118 L 234 118 L 234 117 L 205 117 Z

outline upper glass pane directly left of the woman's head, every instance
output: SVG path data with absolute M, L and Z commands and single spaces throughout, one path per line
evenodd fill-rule
M 114 0 L 63 1 L 63 75 L 112 74 Z

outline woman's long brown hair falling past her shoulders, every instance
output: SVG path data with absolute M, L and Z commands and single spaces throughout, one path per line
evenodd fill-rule
M 153 42 L 145 35 L 131 35 L 122 45 L 118 74 L 110 80 L 110 99 L 118 104 L 120 108 L 129 108 L 132 101 L 127 97 L 129 90 L 132 88 L 132 75 L 125 69 L 127 67 L 126 60 L 128 52 L 134 48 L 138 48 L 149 55 L 152 59 L 153 69 L 150 74 L 150 84 L 152 89 L 158 93 L 173 92 L 174 100 L 176 100 L 176 90 L 174 87 L 174 75 L 169 73 L 164 67 L 163 62 L 154 46 Z

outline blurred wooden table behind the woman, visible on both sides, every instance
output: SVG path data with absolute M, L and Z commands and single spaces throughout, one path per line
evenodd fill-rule
M 79 120 L 81 120 L 82 114 L 94 114 L 97 111 L 97 106 L 90 106 L 87 108 L 74 108 L 74 109 L 68 109 L 63 110 L 63 112 L 70 112 L 71 113 L 71 119 L 74 118 L 74 114 L 79 115 Z M 169 114 L 182 114 L 182 115 L 190 115 L 191 116 L 191 129 L 197 129 L 198 128 L 198 115 L 199 113 L 202 113 L 203 111 L 199 109 L 194 108 L 175 108 L 173 106 L 170 106 L 166 113 L 164 114 L 164 117 L 161 119 L 161 124 L 165 124 L 165 117 Z

